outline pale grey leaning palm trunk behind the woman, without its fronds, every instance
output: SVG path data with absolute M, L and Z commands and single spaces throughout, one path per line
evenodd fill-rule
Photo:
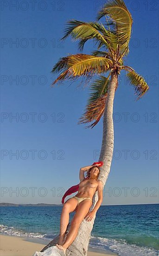
M 106 106 L 103 115 L 103 138 L 102 138 L 102 149 L 99 161 L 103 161 L 103 166 L 101 167 L 101 172 L 99 175 L 99 180 L 102 181 L 103 187 L 107 181 L 108 174 L 110 172 L 113 148 L 114 148 L 114 126 L 113 126 L 113 103 L 114 103 L 114 94 L 115 88 L 117 85 L 117 74 L 114 71 L 111 74 L 110 86 L 108 88 L 108 100 L 106 101 Z M 95 192 L 93 197 L 93 203 L 90 210 L 94 209 L 96 202 L 98 201 L 98 192 Z M 96 215 L 95 215 L 96 216 Z M 91 222 L 87 222 L 83 219 L 83 222 L 80 225 L 78 234 L 73 241 L 73 243 L 66 250 L 67 256 L 87 256 L 90 233 L 93 229 L 95 218 Z M 65 238 L 70 230 L 70 223 L 66 231 Z M 58 241 L 58 236 L 55 237 L 48 245 L 46 245 L 41 252 L 45 249 L 55 245 Z M 59 251 L 59 250 L 58 250 Z

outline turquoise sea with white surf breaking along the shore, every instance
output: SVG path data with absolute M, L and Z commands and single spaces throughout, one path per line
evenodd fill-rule
M 51 241 L 59 234 L 62 206 L 0 207 L 0 232 Z M 75 213 L 70 213 L 70 221 Z M 119 256 L 157 256 L 159 204 L 101 206 L 89 247 Z

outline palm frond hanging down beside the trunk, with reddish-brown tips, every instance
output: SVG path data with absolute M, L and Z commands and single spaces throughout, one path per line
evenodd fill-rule
M 90 86 L 91 93 L 89 95 L 86 111 L 82 117 L 79 118 L 80 121 L 78 124 L 88 123 L 95 120 L 91 125 L 85 127 L 93 128 L 100 121 L 107 100 L 109 82 L 107 77 L 100 75 L 99 78 L 92 83 Z

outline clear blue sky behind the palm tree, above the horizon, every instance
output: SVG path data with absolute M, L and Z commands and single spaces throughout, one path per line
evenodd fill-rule
M 60 204 L 64 192 L 80 182 L 79 169 L 99 160 L 103 118 L 93 129 L 77 124 L 90 83 L 66 81 L 51 88 L 51 69 L 59 58 L 80 53 L 77 41 L 59 41 L 66 21 L 95 21 L 102 3 L 1 1 L 1 202 Z M 150 89 L 135 101 L 134 88 L 121 72 L 114 98 L 114 155 L 102 205 L 159 202 L 159 2 L 125 3 L 133 17 L 125 65 Z M 90 41 L 83 53 L 95 49 Z

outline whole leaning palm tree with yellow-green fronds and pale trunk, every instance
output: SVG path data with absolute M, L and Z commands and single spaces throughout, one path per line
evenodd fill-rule
M 102 17 L 105 17 L 105 26 L 99 22 Z M 61 71 L 52 86 L 66 79 L 75 81 L 78 77 L 83 77 L 88 82 L 95 74 L 98 75 L 97 79 L 90 85 L 90 96 L 86 110 L 78 124 L 92 122 L 87 128 L 93 128 L 103 116 L 102 148 L 99 157 L 99 161 L 103 162 L 99 176 L 103 187 L 108 178 L 114 149 L 113 103 L 114 94 L 118 88 L 118 75 L 122 69 L 126 70 L 127 78 L 134 86 L 135 94 L 138 96 L 137 100 L 149 89 L 142 76 L 137 74 L 132 67 L 124 65 L 124 57 L 129 53 L 128 44 L 132 23 L 131 13 L 123 0 L 108 0 L 98 12 L 95 22 L 69 20 L 65 35 L 61 40 L 70 35 L 74 40 L 79 40 L 79 50 L 83 50 L 87 40 L 93 39 L 97 45 L 97 50 L 93 51 L 92 54 L 71 54 L 63 57 L 51 71 L 52 73 Z M 90 210 L 95 207 L 97 200 L 98 193 L 95 192 Z M 87 255 L 94 220 L 89 223 L 83 220 L 76 239 L 66 250 L 67 255 Z M 66 236 L 67 234 L 68 231 Z M 55 245 L 57 241 L 58 237 L 41 251 Z

